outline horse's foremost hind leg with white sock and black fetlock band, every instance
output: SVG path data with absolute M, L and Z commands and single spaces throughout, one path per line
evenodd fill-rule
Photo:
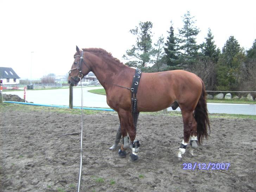
M 186 147 L 190 139 L 190 135 L 196 134 L 194 133 L 194 131 L 195 131 L 195 128 L 197 127 L 197 123 L 193 117 L 192 111 L 181 109 L 181 113 L 183 118 L 184 129 L 183 129 L 183 140 L 177 152 L 178 158 L 182 158 L 182 155 L 186 152 Z M 191 152 L 191 154 L 193 155 L 193 152 Z

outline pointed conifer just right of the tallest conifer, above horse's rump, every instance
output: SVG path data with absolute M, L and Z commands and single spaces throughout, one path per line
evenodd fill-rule
M 204 57 L 209 57 L 213 62 L 217 62 L 220 54 L 220 50 L 216 49 L 215 41 L 213 40 L 211 29 L 208 29 L 205 42 L 201 44 L 201 53 Z

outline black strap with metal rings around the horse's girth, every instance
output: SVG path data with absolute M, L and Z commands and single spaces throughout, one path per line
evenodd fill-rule
M 136 94 L 138 91 L 141 75 L 142 75 L 142 72 L 139 69 L 136 69 L 135 75 L 133 77 L 132 88 L 130 89 L 132 92 L 132 111 L 133 111 L 133 113 L 135 113 L 137 111 Z

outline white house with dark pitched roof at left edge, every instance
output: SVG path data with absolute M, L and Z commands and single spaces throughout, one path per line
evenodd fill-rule
M 0 67 L 0 79 L 5 85 L 17 85 L 20 83 L 20 77 L 9 67 Z

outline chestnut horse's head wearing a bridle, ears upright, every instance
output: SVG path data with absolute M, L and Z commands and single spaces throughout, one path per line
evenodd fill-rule
M 76 46 L 76 53 L 74 55 L 74 62 L 69 71 L 68 82 L 71 86 L 76 86 L 85 75 L 87 75 L 91 69 L 88 64 L 85 63 L 83 58 L 84 52 Z

